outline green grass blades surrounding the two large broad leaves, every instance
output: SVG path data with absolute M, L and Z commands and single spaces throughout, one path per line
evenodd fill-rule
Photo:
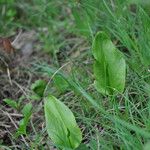
M 18 101 L 24 96 L 19 110 L 2 102 L 0 121 L 4 124 L 8 123 L 6 118 L 10 119 L 7 113 L 10 116 L 21 115 L 25 104 L 31 102 L 33 105 L 27 135 L 15 137 L 14 123 L 18 126 L 21 116 L 16 118 L 12 115 L 13 122 L 9 120 L 8 123 L 10 128 L 5 125 L 0 130 L 2 133 L 8 131 L 5 134 L 7 140 L 5 137 L 0 139 L 2 149 L 52 149 L 53 143 L 45 129 L 43 99 L 36 101 L 31 98 L 31 85 L 37 79 L 49 83 L 44 96 L 48 93 L 56 96 L 73 111 L 83 132 L 82 143 L 90 149 L 143 149 L 150 140 L 148 5 L 127 0 L 0 2 L 1 36 L 14 35 L 18 28 L 26 31 L 33 29 L 38 32 L 38 42 L 42 43 L 30 67 L 25 66 L 25 70 L 17 68 L 21 75 L 15 74 L 17 77 L 12 77 L 22 87 L 22 91 L 13 84 L 8 90 L 8 97 L 4 97 L 7 95 L 3 94 L 6 90 L 0 86 L 1 100 L 12 98 Z M 47 32 L 40 31 L 40 28 L 46 28 Z M 91 45 L 98 31 L 108 33 L 124 54 L 127 76 L 123 94 L 105 96 L 94 88 Z M 67 90 L 58 90 L 59 84 L 54 82 L 56 73 L 68 82 Z M 11 74 L 15 76 L 13 72 Z M 7 80 L 7 74 L 0 74 L 1 84 L 8 88 Z

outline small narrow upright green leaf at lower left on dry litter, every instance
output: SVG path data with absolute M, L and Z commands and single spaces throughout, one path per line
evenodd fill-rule
M 23 114 L 24 118 L 22 120 L 20 120 L 20 122 L 19 122 L 19 128 L 16 133 L 17 136 L 22 135 L 22 134 L 26 135 L 26 128 L 27 128 L 28 122 L 29 122 L 31 114 L 32 114 L 32 104 L 31 103 L 28 103 L 24 106 L 24 108 L 22 109 L 22 114 Z

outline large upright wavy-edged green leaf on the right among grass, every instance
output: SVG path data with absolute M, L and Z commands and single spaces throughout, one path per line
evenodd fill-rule
M 126 63 L 123 55 L 104 32 L 98 32 L 93 41 L 95 58 L 95 87 L 102 94 L 123 92 L 125 87 Z

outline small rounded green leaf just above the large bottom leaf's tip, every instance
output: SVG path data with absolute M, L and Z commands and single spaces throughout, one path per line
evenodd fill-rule
M 46 81 L 44 80 L 37 80 L 31 85 L 31 89 L 40 97 L 43 97 L 45 87 Z

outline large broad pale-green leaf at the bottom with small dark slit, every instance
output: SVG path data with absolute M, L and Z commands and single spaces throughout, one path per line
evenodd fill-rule
M 82 133 L 71 110 L 51 95 L 45 98 L 44 110 L 47 132 L 52 141 L 62 149 L 77 148 Z

